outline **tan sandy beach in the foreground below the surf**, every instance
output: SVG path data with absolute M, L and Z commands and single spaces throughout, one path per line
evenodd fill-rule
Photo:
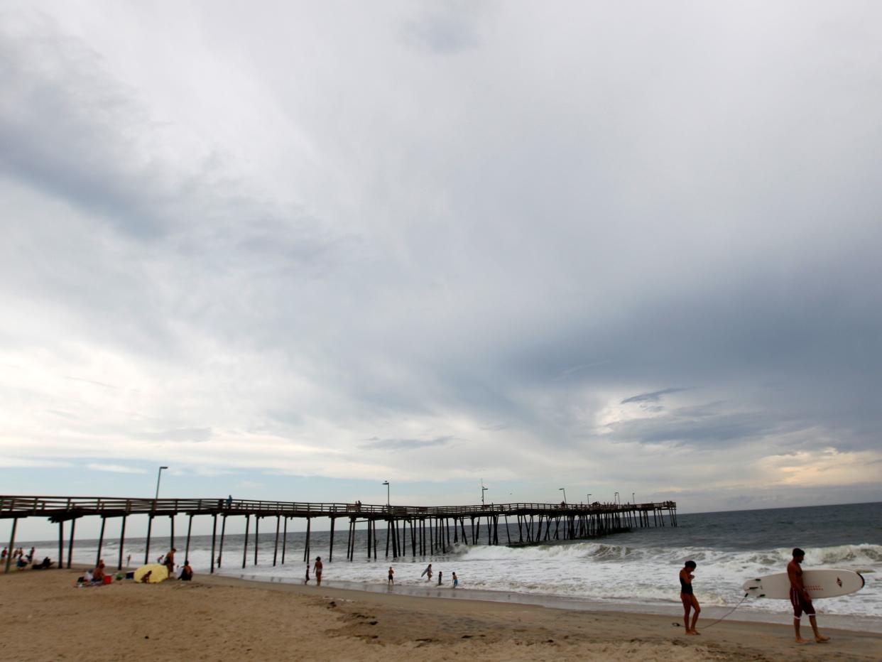
M 0 575 L 0 659 L 869 660 L 882 636 L 722 621 L 684 636 L 669 616 L 575 612 L 197 576 L 76 588 L 79 571 Z M 806 626 L 808 623 L 806 623 Z M 823 626 L 823 623 L 821 623 Z M 700 622 L 699 622 L 700 629 Z

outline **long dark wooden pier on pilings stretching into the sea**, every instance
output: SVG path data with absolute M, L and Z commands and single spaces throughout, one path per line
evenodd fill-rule
M 131 515 L 146 515 L 147 535 L 144 562 L 150 560 L 150 538 L 153 520 L 168 517 L 171 526 L 171 546 L 175 545 L 175 516 L 186 515 L 187 536 L 184 558 L 190 553 L 193 517 L 212 518 L 212 565 L 221 568 L 223 544 L 228 517 L 245 518 L 242 567 L 248 560 L 250 524 L 254 521 L 254 565 L 258 563 L 258 535 L 260 520 L 275 519 L 273 566 L 280 558 L 285 563 L 288 542 L 288 520 L 306 520 L 306 539 L 303 561 L 310 558 L 310 530 L 312 520 L 318 517 L 331 521 L 328 561 L 333 561 L 334 529 L 337 520 L 348 523 L 347 560 L 355 559 L 356 530 L 366 525 L 366 553 L 377 558 L 377 527 L 385 527 L 385 557 L 425 556 L 446 553 L 452 545 L 537 545 L 555 540 L 594 538 L 634 528 L 676 526 L 676 503 L 617 504 L 599 503 L 508 503 L 475 506 L 374 506 L 361 503 L 306 503 L 295 501 L 259 501 L 242 499 L 122 499 L 104 497 L 58 496 L 0 496 L 0 519 L 11 519 L 9 554 L 5 571 L 9 572 L 11 553 L 15 548 L 15 533 L 19 519 L 47 517 L 58 524 L 58 568 L 64 566 L 64 524 L 71 523 L 67 539 L 67 567 L 71 568 L 73 540 L 77 520 L 82 517 L 101 517 L 101 535 L 98 540 L 96 564 L 101 559 L 105 526 L 108 519 L 120 518 L 119 560 L 123 568 L 125 525 Z M 667 517 L 667 522 L 665 518 Z M 218 519 L 221 520 L 220 540 Z M 511 519 L 510 519 L 511 518 Z M 504 526 L 505 539 L 500 542 L 499 524 Z M 517 524 L 518 538 L 512 539 L 509 524 Z M 284 524 L 284 526 L 282 526 Z M 408 535 L 409 530 L 409 535 Z M 451 536 L 452 533 L 452 536 Z M 281 554 L 279 539 L 281 535 Z M 409 538 L 409 539 L 408 539 Z

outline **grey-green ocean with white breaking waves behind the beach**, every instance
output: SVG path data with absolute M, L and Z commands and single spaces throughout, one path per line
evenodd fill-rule
M 338 521 L 340 524 L 341 521 Z M 682 614 L 677 574 L 684 560 L 698 564 L 693 586 L 703 608 L 702 621 L 726 616 L 740 621 L 790 623 L 789 602 L 744 598 L 741 585 L 751 577 L 784 572 L 793 547 L 805 552 L 804 568 L 847 568 L 860 572 L 866 585 L 841 598 L 818 600 L 818 622 L 823 627 L 854 628 L 882 632 L 882 503 L 770 508 L 723 513 L 678 515 L 677 527 L 639 529 L 604 538 L 558 542 L 525 547 L 457 545 L 452 552 L 433 556 L 385 559 L 385 528 L 377 526 L 378 560 L 367 559 L 366 532 L 358 532 L 355 560 L 346 560 L 346 525 L 334 538 L 334 558 L 327 563 L 328 531 L 313 531 L 310 560 L 325 560 L 323 585 L 363 591 L 395 591 L 438 598 L 483 598 L 562 606 L 572 609 L 610 609 L 646 613 L 669 613 L 674 621 Z M 247 563 L 242 568 L 243 536 L 224 540 L 221 575 L 243 576 L 255 581 L 302 582 L 305 533 L 288 533 L 285 565 L 273 567 L 275 523 L 262 523 L 258 565 L 254 563 L 253 533 Z M 512 524 L 512 539 L 517 525 Z M 272 531 L 270 529 L 272 528 Z M 505 530 L 500 530 L 500 541 Z M 153 560 L 168 549 L 168 538 L 153 537 Z M 132 565 L 144 560 L 143 538 L 127 539 L 125 554 Z M 178 562 L 183 561 L 184 538 L 176 537 Z M 29 543 L 20 544 L 26 549 Z M 37 543 L 38 558 L 55 558 L 57 542 Z M 66 545 L 66 542 L 65 542 Z M 78 540 L 74 560 L 93 563 L 97 541 Z M 102 556 L 116 567 L 118 541 L 106 540 Z M 409 538 L 408 538 L 409 545 Z M 45 551 L 41 551 L 45 550 Z M 65 547 L 66 552 L 66 547 Z M 281 543 L 279 545 L 279 560 Z M 191 539 L 190 560 L 196 573 L 208 571 L 211 537 Z M 432 563 L 443 572 L 431 583 L 420 576 Z M 395 586 L 386 584 L 387 568 L 395 569 Z M 453 591 L 451 573 L 460 578 Z M 313 580 L 314 582 L 314 580 Z M 733 607 L 734 613 L 727 615 Z M 702 621 L 699 621 L 699 628 Z

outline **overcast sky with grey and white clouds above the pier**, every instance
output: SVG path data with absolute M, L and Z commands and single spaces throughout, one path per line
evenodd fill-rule
M 0 492 L 882 499 L 882 5 L 0 2 Z

